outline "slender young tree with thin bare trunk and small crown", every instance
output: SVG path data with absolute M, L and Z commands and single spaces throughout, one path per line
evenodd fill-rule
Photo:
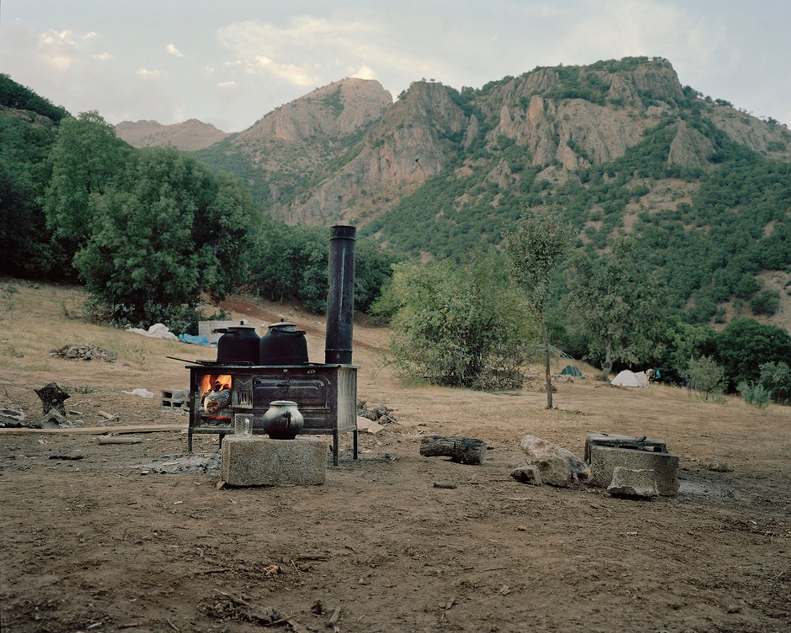
M 505 236 L 513 280 L 524 292 L 528 309 L 538 320 L 547 380 L 547 409 L 552 408 L 552 374 L 545 313 L 552 272 L 566 252 L 573 229 L 560 219 L 558 209 L 540 210 L 520 218 Z

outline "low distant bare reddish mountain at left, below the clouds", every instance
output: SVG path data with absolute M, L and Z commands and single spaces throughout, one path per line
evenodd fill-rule
M 133 147 L 172 146 L 176 150 L 192 152 L 214 145 L 229 134 L 211 123 L 188 119 L 172 125 L 146 120 L 121 121 L 115 126 L 115 135 Z

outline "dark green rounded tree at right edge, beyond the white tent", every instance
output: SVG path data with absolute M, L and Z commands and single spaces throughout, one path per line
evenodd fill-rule
M 791 358 L 791 335 L 755 319 L 732 320 L 715 337 L 717 362 L 725 367 L 729 391 L 740 382 L 758 382 L 761 365 Z

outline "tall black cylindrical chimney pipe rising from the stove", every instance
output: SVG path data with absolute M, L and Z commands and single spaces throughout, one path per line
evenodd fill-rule
M 324 362 L 327 365 L 351 364 L 356 233 L 354 226 L 330 227 L 330 290 L 327 293 L 327 337 L 324 344 Z

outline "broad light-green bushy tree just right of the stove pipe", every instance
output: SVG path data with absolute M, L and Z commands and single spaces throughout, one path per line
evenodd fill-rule
M 521 384 L 530 324 L 497 253 L 451 263 L 397 263 L 373 305 L 394 313 L 391 349 L 406 378 L 489 389 Z

